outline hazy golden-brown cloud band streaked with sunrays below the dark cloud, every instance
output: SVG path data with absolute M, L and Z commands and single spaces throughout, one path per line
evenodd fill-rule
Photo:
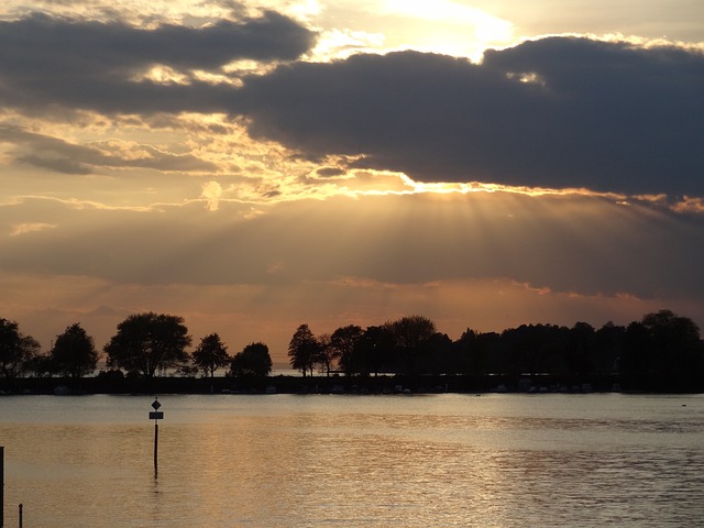
M 0 206 L 0 268 L 132 284 L 508 277 L 579 295 L 704 295 L 694 278 L 704 262 L 704 218 L 597 197 L 338 197 L 251 212 L 222 200 L 205 213 L 204 202 L 131 211 L 25 199 Z M 10 237 L 19 223 L 54 228 Z

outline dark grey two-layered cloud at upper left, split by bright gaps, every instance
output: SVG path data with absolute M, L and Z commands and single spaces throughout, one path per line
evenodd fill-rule
M 153 30 L 122 22 L 34 14 L 0 22 L 0 99 L 6 106 L 50 106 L 102 112 L 212 111 L 231 88 L 207 82 L 134 81 L 155 65 L 188 73 L 219 70 L 233 61 L 292 61 L 316 35 L 275 12 L 202 28 L 162 24 Z

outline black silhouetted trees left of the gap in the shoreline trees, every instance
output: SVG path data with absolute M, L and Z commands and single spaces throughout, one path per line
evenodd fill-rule
M 186 349 L 193 338 L 184 319 L 165 314 L 134 314 L 118 324 L 117 333 L 103 346 L 109 371 L 101 375 L 152 378 L 174 370 L 178 375 L 198 373 L 213 377 L 229 366 L 228 375 L 266 376 L 272 371 L 268 346 L 250 343 L 233 356 L 218 333 L 204 337 L 193 352 Z M 48 353 L 40 343 L 20 332 L 15 321 L 0 319 L 0 377 L 64 376 L 79 380 L 96 371 L 100 353 L 95 340 L 80 323 L 56 336 Z

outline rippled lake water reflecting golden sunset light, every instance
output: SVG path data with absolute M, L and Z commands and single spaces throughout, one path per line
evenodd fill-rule
M 0 397 L 4 520 L 704 526 L 704 396 Z

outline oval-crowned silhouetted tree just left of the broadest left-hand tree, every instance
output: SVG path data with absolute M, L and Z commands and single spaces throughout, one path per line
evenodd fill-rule
M 76 322 L 56 336 L 51 361 L 56 373 L 79 380 L 96 370 L 98 351 L 94 339 Z

